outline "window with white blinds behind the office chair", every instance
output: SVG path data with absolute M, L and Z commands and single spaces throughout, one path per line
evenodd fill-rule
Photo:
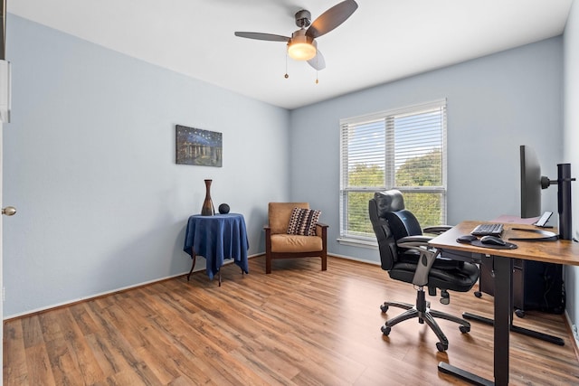
M 422 227 L 446 223 L 446 100 L 340 120 L 340 238 L 374 241 L 368 201 L 398 189 Z

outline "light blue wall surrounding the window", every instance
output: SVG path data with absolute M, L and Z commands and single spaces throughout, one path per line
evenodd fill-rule
M 328 250 L 379 260 L 337 241 L 339 119 L 434 99 L 448 103 L 447 222 L 518 215 L 519 146 L 536 149 L 546 175 L 563 161 L 562 47 L 557 37 L 291 111 L 291 196 L 322 210 Z M 556 189 L 543 198 L 557 212 Z

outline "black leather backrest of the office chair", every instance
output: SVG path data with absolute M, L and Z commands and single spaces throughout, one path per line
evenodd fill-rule
M 413 213 L 404 209 L 402 193 L 394 189 L 376 192 L 368 202 L 368 212 L 378 241 L 381 266 L 390 270 L 400 253 L 396 240 L 422 235 L 422 228 Z

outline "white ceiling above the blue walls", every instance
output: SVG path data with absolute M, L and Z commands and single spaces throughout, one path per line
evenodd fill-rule
M 312 19 L 341 0 L 7 0 L 7 11 L 117 52 L 282 108 L 467 61 L 563 33 L 572 0 L 356 0 L 320 36 L 327 67 L 287 59 L 294 16 Z M 8 20 L 8 34 L 10 24 Z M 8 54 L 10 47 L 8 47 Z M 7 59 L 10 59 L 9 57 Z

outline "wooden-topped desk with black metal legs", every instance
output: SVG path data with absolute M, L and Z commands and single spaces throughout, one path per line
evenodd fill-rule
M 493 259 L 482 259 L 482 264 L 490 265 L 494 272 L 495 294 L 510 294 L 512 287 L 513 259 L 526 259 L 579 266 L 579 243 L 571 240 L 556 241 L 512 241 L 517 249 L 490 249 L 476 247 L 470 244 L 460 244 L 456 241 L 459 236 L 469 234 L 482 221 L 463 221 L 432 239 L 430 244 L 439 249 L 460 250 L 472 254 L 479 254 Z M 505 223 L 502 238 L 508 240 L 513 237 L 529 237 L 524 231 L 514 231 L 513 228 L 536 229 L 531 225 Z M 451 373 L 464 381 L 479 385 L 507 385 L 508 384 L 508 345 L 509 332 L 513 314 L 510 296 L 494 297 L 494 383 L 485 380 L 476 374 L 466 372 L 446 362 L 439 363 L 439 371 Z

